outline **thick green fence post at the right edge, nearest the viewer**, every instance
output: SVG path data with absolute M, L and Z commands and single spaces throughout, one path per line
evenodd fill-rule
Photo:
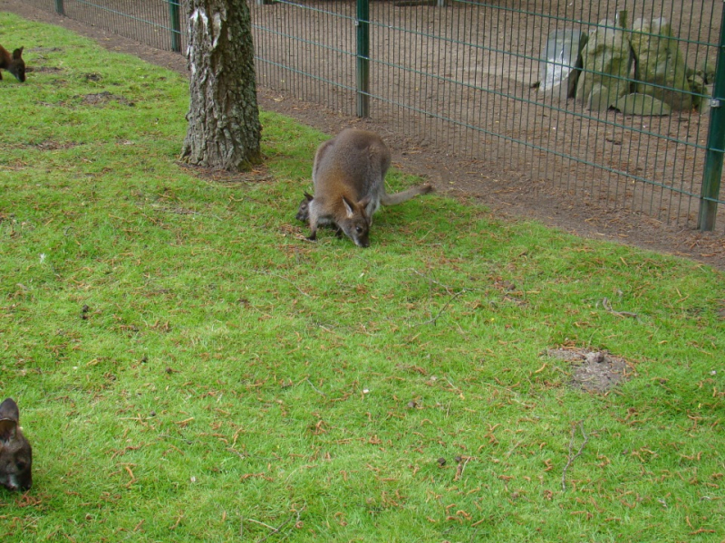
M 722 176 L 722 158 L 725 152 L 725 10 L 720 22 L 720 46 L 718 47 L 717 68 L 715 69 L 715 88 L 712 92 L 710 109 L 710 130 L 708 148 L 705 152 L 705 171 L 702 173 L 700 192 L 700 214 L 697 227 L 702 231 L 715 228 L 715 215 L 718 213 L 720 196 L 720 176 Z

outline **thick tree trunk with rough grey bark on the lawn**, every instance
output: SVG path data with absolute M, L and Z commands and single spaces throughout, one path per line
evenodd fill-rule
M 186 0 L 189 129 L 181 159 L 248 170 L 261 162 L 252 22 L 247 0 Z

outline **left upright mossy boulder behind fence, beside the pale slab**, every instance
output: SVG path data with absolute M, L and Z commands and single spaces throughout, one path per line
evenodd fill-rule
M 582 60 L 585 71 L 579 78 L 577 100 L 593 109 L 606 109 L 629 93 L 632 47 L 627 34 L 614 28 L 614 21 L 599 22 L 586 43 Z

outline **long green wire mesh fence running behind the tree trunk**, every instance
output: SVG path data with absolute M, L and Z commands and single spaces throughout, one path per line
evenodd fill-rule
M 176 0 L 30 3 L 60 5 L 69 17 L 154 47 L 185 46 Z M 423 145 L 668 223 L 712 229 L 725 203 L 720 0 L 254 0 L 250 7 L 262 87 L 369 116 Z M 648 25 L 662 17 L 669 34 Z M 580 74 L 576 89 L 587 77 L 605 76 L 604 83 L 644 90 L 671 110 L 655 105 L 658 115 L 639 115 L 622 112 L 621 102 L 619 110 L 600 109 L 593 97 L 601 99 L 601 87 L 581 100 L 568 88 L 552 89 L 552 78 L 569 66 L 561 54 L 564 31 L 588 37 L 590 49 L 621 36 L 646 38 L 636 58 L 635 48 L 627 49 L 624 68 L 606 64 L 609 50 L 604 60 L 585 62 L 572 72 Z M 653 56 L 658 44 L 666 60 L 646 79 L 643 56 Z M 664 79 L 667 71 L 680 82 Z M 614 102 L 609 92 L 604 106 Z

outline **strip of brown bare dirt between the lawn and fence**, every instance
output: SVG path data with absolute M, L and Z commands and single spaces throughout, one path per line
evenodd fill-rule
M 177 53 L 153 49 L 98 27 L 38 10 L 22 0 L 0 0 L 0 10 L 34 21 L 58 24 L 96 40 L 111 51 L 133 54 L 147 62 L 188 73 L 186 60 Z M 32 68 L 32 63 L 29 62 L 29 66 Z M 29 74 L 30 82 L 32 73 Z M 474 165 L 473 161 L 460 158 L 453 160 L 445 150 L 435 148 L 427 148 L 425 153 L 420 153 L 420 150 L 411 147 L 410 140 L 376 126 L 372 121 L 348 118 L 324 107 L 286 97 L 275 90 L 260 88 L 258 98 L 262 109 L 283 113 L 329 134 L 349 126 L 377 130 L 393 152 L 395 167 L 427 177 L 441 193 L 476 199 L 497 216 L 510 220 L 533 218 L 585 238 L 607 239 L 668 252 L 725 270 L 725 236 L 721 228 L 716 233 L 700 233 L 663 224 L 646 214 L 598 205 L 595 199 L 583 201 L 565 190 L 546 185 L 545 181 L 533 179 L 526 172 L 511 172 L 491 164 L 484 165 L 482 170 L 479 163 Z M 181 142 L 179 148 L 180 145 Z M 455 180 L 455 183 L 450 180 Z M 290 203 L 291 217 L 297 203 L 295 196 Z M 725 221 L 722 213 L 720 210 L 719 223 Z

